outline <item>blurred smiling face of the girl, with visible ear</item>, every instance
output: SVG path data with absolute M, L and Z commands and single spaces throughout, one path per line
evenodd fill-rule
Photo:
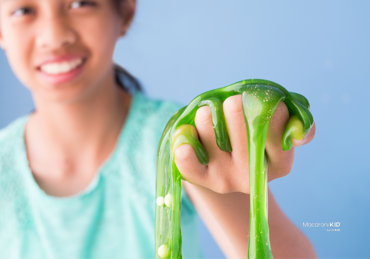
M 36 99 L 73 102 L 112 80 L 112 55 L 135 1 L 123 15 L 108 0 L 0 0 L 0 44 Z

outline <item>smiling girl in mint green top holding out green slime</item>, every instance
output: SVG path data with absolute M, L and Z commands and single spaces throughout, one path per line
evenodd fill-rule
M 112 63 L 135 0 L 0 0 L 0 44 L 35 111 L 0 132 L 0 257 L 153 258 L 155 157 L 178 105 L 152 101 Z M 233 151 L 215 142 L 211 113 L 196 128 L 210 163 L 189 145 L 175 151 L 183 182 L 184 257 L 201 257 L 196 211 L 226 256 L 246 258 L 249 176 L 241 97 L 223 103 Z M 289 118 L 280 103 L 270 122 L 268 180 L 290 172 L 282 151 Z M 314 137 L 314 127 L 303 141 Z M 269 192 L 275 258 L 311 258 L 309 240 Z

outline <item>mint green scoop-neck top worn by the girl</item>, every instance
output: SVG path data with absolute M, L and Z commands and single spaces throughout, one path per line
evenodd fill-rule
M 179 106 L 134 94 L 116 147 L 80 193 L 47 195 L 28 166 L 28 115 L 0 131 L 0 258 L 154 258 L 155 162 Z M 197 215 L 182 193 L 184 258 L 201 258 Z

